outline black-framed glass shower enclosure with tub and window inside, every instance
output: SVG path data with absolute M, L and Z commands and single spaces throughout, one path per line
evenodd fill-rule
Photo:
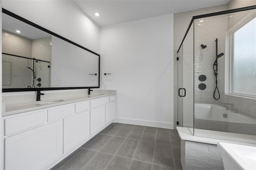
M 256 135 L 255 28 L 256 6 L 192 18 L 174 66 L 177 126 Z

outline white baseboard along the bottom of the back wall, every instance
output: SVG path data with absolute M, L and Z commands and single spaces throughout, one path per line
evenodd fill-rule
M 162 128 L 167 128 L 167 129 L 173 129 L 173 123 L 160 122 L 160 121 L 147 121 L 147 120 L 127 119 L 127 118 L 116 117 L 115 122 L 132 124 L 132 125 L 143 125 L 143 126 L 162 127 Z

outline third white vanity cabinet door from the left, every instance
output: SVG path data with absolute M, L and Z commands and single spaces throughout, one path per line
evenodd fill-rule
M 90 110 L 90 135 L 105 125 L 105 105 Z

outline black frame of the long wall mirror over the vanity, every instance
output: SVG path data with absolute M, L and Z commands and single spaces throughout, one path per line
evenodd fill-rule
M 64 38 L 64 37 L 62 37 L 62 36 L 52 32 L 52 31 L 50 31 L 48 29 L 45 29 L 44 27 L 41 27 L 40 25 L 37 25 L 37 24 L 35 24 L 35 23 L 33 23 L 33 22 L 29 21 L 29 20 L 26 20 L 25 18 L 22 18 L 22 17 L 20 17 L 20 16 L 18 16 L 16 14 L 14 14 L 14 13 L 4 9 L 4 8 L 2 8 L 2 13 L 7 14 L 9 16 L 12 16 L 13 18 L 16 18 L 17 20 L 23 21 L 23 22 L 25 22 L 25 23 L 33 26 L 33 27 L 36 27 L 36 28 L 38 28 L 38 29 L 40 29 L 42 31 L 45 31 L 45 32 L 47 32 L 47 33 L 49 33 L 51 35 L 54 35 L 55 37 L 58 37 L 58 38 L 60 38 L 60 39 L 62 39 L 64 41 L 67 41 L 68 43 L 76 45 L 77 47 L 80 47 L 81 49 L 84 49 L 84 50 L 86 50 L 86 51 L 88 51 L 90 53 L 93 53 L 94 55 L 97 55 L 99 57 L 98 86 L 93 86 L 93 87 L 54 87 L 54 88 L 51 88 L 51 87 L 50 88 L 2 88 L 2 92 L 28 92 L 28 91 L 38 91 L 38 90 L 43 91 L 43 90 L 68 90 L 68 89 L 100 88 L 100 55 L 99 54 L 97 54 L 97 53 L 95 53 L 95 52 L 93 52 L 93 51 L 91 51 L 91 50 L 89 50 L 89 49 L 87 49 L 87 48 L 77 44 L 77 43 L 74 43 L 73 41 L 70 41 L 69 39 L 66 39 L 66 38 Z

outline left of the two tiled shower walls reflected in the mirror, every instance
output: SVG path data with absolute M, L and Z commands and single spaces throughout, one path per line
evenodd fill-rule
M 31 58 L 32 56 L 31 39 L 2 30 L 2 53 L 18 55 Z M 28 72 L 27 59 L 2 55 L 2 86 L 3 88 L 27 88 L 28 82 L 31 82 L 31 76 L 27 78 Z

